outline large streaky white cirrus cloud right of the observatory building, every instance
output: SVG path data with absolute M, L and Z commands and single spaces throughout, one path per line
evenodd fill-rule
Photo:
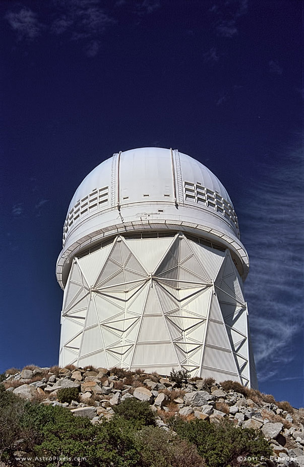
M 240 216 L 251 261 L 245 287 L 261 381 L 281 373 L 298 355 L 303 325 L 301 163 L 300 151 L 290 151 L 285 165 L 268 168 L 267 177 L 249 186 Z

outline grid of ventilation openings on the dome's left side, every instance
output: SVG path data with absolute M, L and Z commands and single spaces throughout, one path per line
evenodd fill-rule
M 79 199 L 74 207 L 69 211 L 65 225 L 63 241 L 65 242 L 67 234 L 71 227 L 76 224 L 80 219 L 88 216 L 89 214 L 102 209 L 109 203 L 109 187 L 95 188 L 91 193 L 82 199 Z

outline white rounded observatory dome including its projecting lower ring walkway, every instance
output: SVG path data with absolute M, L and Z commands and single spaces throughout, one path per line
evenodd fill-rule
M 143 147 L 113 154 L 77 188 L 64 225 L 57 279 L 64 287 L 70 260 L 121 231 L 181 230 L 229 245 L 240 275 L 248 256 L 239 241 L 232 201 L 218 178 L 178 150 Z

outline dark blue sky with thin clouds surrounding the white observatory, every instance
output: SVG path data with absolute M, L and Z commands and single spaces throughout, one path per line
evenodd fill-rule
M 302 2 L 2 0 L 0 372 L 56 364 L 70 200 L 113 152 L 173 147 L 238 214 L 260 389 L 303 406 Z

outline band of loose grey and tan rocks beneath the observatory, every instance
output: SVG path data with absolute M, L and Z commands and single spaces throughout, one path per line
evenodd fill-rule
M 10 369 L 2 380 L 8 392 L 41 405 L 67 407 L 92 424 L 110 420 L 115 406 L 129 398 L 148 402 L 156 426 L 167 432 L 172 417 L 210 424 L 230 420 L 235 426 L 261 431 L 269 441 L 273 456 L 261 465 L 304 467 L 304 409 L 236 382 L 188 379 L 187 372 L 173 372 L 168 378 L 141 370 L 74 366 Z

